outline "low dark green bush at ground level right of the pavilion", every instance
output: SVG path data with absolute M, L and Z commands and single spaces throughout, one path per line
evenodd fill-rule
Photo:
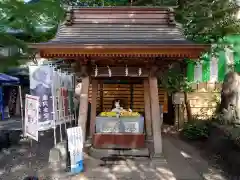
M 184 125 L 181 133 L 189 140 L 207 139 L 210 134 L 209 121 L 194 119 Z

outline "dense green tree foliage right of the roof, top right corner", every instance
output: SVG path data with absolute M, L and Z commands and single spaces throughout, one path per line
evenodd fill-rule
M 189 39 L 214 44 L 240 32 L 238 10 L 236 2 L 230 0 L 185 0 L 177 9 L 177 18 Z

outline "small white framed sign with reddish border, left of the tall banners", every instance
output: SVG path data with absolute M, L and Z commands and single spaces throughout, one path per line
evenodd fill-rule
M 25 136 L 38 141 L 39 97 L 26 94 Z

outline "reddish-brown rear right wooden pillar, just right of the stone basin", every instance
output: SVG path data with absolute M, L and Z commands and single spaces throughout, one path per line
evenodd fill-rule
M 150 106 L 150 95 L 149 95 L 149 79 L 144 79 L 144 110 L 145 110 L 145 124 L 147 140 L 152 139 L 152 119 L 151 119 L 151 106 Z

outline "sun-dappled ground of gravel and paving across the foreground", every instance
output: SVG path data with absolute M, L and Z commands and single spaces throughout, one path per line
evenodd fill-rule
M 46 180 L 201 180 L 203 174 L 199 167 L 203 165 L 206 166 L 205 169 L 209 167 L 200 157 L 197 159 L 201 161 L 198 165 L 191 163 L 188 156 L 192 154 L 182 148 L 181 142 L 174 142 L 170 137 L 163 136 L 165 157 L 152 160 L 140 157 L 128 158 L 104 166 L 101 160 L 85 154 L 85 172 L 71 176 L 64 171 L 64 168 L 49 166 L 49 150 L 53 147 L 51 132 L 45 136 L 40 137 L 40 142 L 33 143 L 32 147 L 28 142 L 22 142 L 19 146 L 2 151 L 0 180 L 23 180 L 24 177 L 32 175 Z M 187 156 L 189 152 L 191 155 Z M 193 156 L 195 158 L 195 155 Z M 64 167 L 65 164 L 63 163 L 62 166 Z M 222 180 L 212 177 L 210 178 L 212 180 Z

